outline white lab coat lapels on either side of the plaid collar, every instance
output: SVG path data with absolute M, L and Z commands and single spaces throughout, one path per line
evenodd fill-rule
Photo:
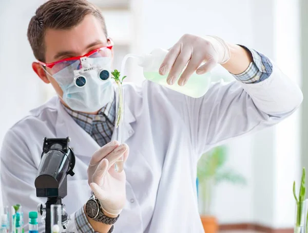
M 56 137 L 70 137 L 70 147 L 76 155 L 82 156 L 92 156 L 92 154 L 97 151 L 100 146 L 97 142 L 85 131 L 83 130 L 73 118 L 65 111 L 62 106 L 60 99 L 57 98 L 57 119 L 55 123 Z M 128 104 L 125 102 L 124 111 L 124 141 L 130 138 L 134 131 L 130 126 L 130 123 L 136 121 L 136 118 L 131 113 Z M 115 130 L 113 130 L 111 140 L 115 140 Z M 83 143 L 80 143 L 80 142 Z

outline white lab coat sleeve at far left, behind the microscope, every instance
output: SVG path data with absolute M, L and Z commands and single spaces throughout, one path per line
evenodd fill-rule
M 13 129 L 9 130 L 4 138 L 0 156 L 3 204 L 4 206 L 22 204 L 25 232 L 27 232 L 28 213 L 36 211 L 38 204 L 46 202 L 46 199 L 36 197 L 34 180 L 37 167 L 23 138 Z M 45 225 L 41 223 L 40 218 L 38 219 L 38 231 L 45 231 Z M 77 232 L 74 213 L 71 214 L 71 221 L 66 231 Z

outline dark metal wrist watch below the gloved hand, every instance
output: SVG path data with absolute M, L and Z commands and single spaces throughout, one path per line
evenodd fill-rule
M 120 216 L 120 214 L 116 218 L 110 218 L 105 216 L 102 207 L 100 205 L 100 201 L 97 198 L 95 198 L 94 194 L 86 203 L 86 214 L 90 219 L 93 219 L 94 221 L 112 225 L 108 233 L 111 233 L 113 231 L 114 228 L 113 224 L 117 222 Z

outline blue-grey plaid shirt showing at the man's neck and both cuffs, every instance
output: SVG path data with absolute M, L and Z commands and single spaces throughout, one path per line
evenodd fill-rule
M 244 46 L 242 46 L 244 47 Z M 253 62 L 251 62 L 248 68 L 239 75 L 233 75 L 237 80 L 243 83 L 258 83 L 267 79 L 273 70 L 273 65 L 267 57 L 262 55 L 262 53 L 257 52 L 253 49 L 249 50 L 253 56 Z M 72 118 L 83 128 L 92 138 L 98 142 L 102 147 L 107 144 L 112 135 L 115 122 L 115 98 L 111 103 L 108 103 L 99 112 L 98 115 L 91 115 L 85 113 L 79 113 L 72 111 L 65 107 L 65 110 L 72 116 Z M 81 233 L 93 233 L 94 230 L 89 224 L 84 208 L 76 211 L 75 213 L 75 223 L 78 232 Z

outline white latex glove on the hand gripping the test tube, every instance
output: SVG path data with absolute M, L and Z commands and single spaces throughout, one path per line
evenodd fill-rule
M 111 141 L 96 151 L 88 167 L 88 183 L 99 199 L 103 210 L 118 216 L 126 202 L 126 176 L 114 171 L 114 163 L 121 157 L 126 161 L 129 148 L 126 144 L 119 146 L 118 141 Z

